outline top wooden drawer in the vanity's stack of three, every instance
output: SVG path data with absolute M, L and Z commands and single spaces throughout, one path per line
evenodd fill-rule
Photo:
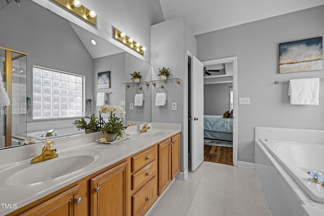
M 156 159 L 156 146 L 132 157 L 132 172 L 135 172 L 143 166 Z

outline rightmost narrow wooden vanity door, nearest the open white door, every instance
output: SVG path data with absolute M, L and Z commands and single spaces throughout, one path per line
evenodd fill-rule
M 180 134 L 171 138 L 171 179 L 180 171 Z

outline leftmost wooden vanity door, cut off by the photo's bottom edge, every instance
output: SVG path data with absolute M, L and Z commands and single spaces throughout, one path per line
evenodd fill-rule
M 82 199 L 78 199 L 78 196 L 79 186 L 77 185 L 18 215 L 81 215 L 76 202 L 79 203 Z

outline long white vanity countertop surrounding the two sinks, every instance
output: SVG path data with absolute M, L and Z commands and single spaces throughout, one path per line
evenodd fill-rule
M 158 129 L 164 132 L 163 135 L 150 136 L 149 133 L 139 133 L 141 126 L 128 127 L 126 133 L 130 135 L 112 144 L 95 142 L 96 139 L 103 137 L 100 132 L 55 140 L 53 148 L 57 149 L 58 158 L 35 164 L 30 164 L 30 159 L 41 154 L 43 143 L 0 150 L 0 164 L 2 164 L 0 166 L 0 203 L 7 204 L 7 208 L 3 204 L 0 205 L 0 214 L 10 213 L 181 131 L 180 124 L 149 123 L 152 131 Z M 60 159 L 60 155 L 64 157 L 71 151 L 82 154 L 89 152 L 89 154 L 96 155 L 97 160 L 72 174 L 33 185 L 17 185 L 9 181 L 10 176 L 17 173 L 18 169 L 55 162 L 56 159 Z M 37 175 L 37 173 L 28 175 Z M 17 207 L 8 208 L 8 204 L 11 207 Z

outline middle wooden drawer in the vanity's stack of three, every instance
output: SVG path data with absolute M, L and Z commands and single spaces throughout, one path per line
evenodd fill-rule
M 143 182 L 147 182 L 154 176 L 156 176 L 156 160 L 153 160 L 151 163 L 132 175 L 132 190 L 136 189 Z

